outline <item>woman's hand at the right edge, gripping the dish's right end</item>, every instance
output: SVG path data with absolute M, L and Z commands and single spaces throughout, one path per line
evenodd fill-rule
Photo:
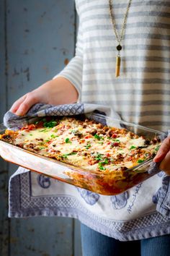
M 167 175 L 170 175 L 170 137 L 167 137 L 162 142 L 153 162 L 161 162 L 159 168 L 165 171 Z

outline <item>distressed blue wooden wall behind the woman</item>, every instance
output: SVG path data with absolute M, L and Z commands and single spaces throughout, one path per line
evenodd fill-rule
M 0 0 L 0 120 L 12 103 L 61 71 L 73 57 L 73 0 Z M 9 219 L 8 181 L 17 166 L 0 159 L 0 255 L 81 256 L 71 218 Z

